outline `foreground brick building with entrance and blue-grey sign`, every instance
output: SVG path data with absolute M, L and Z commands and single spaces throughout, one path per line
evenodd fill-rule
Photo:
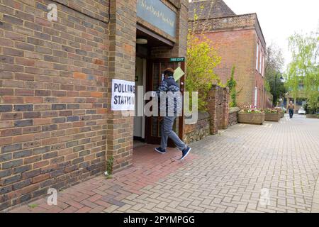
M 112 110 L 112 82 L 150 91 L 164 68 L 184 67 L 169 57 L 185 56 L 187 7 L 187 0 L 1 1 L 0 210 L 101 174 L 111 157 L 114 171 L 130 166 L 133 136 L 157 143 L 157 118 Z M 181 137 L 183 125 L 179 118 Z

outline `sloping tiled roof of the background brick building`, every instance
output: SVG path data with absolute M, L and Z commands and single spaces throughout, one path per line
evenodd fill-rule
M 189 20 L 194 20 L 194 12 L 198 19 L 235 16 L 223 0 L 191 1 L 189 3 Z

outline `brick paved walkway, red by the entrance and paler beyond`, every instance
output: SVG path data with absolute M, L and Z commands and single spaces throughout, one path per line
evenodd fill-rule
M 319 121 L 285 116 L 263 126 L 238 124 L 193 143 L 185 162 L 175 149 L 136 149 L 133 167 L 39 199 L 12 212 L 310 212 L 319 173 Z M 269 190 L 269 204 L 260 200 Z M 317 187 L 318 189 L 318 187 Z M 265 197 L 268 198 L 268 197 Z M 314 199 L 313 199 L 314 198 Z M 267 200 L 266 200 L 267 201 Z

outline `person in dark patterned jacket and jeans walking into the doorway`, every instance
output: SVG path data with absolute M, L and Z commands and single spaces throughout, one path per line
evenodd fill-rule
M 191 148 L 173 131 L 174 121 L 181 113 L 181 96 L 179 85 L 175 82 L 174 70 L 172 68 L 164 70 L 164 79 L 157 89 L 157 96 L 161 100 L 159 105 L 159 121 L 162 123 L 162 133 L 160 147 L 155 148 L 155 150 L 158 153 L 165 154 L 167 139 L 171 138 L 177 148 L 181 150 L 180 160 L 184 160 L 184 158 L 189 155 Z M 162 113 L 165 113 L 164 116 L 162 116 Z

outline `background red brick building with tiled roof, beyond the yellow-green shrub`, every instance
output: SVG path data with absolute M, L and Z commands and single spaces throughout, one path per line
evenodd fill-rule
M 194 15 L 198 18 L 194 22 Z M 236 15 L 222 0 L 192 1 L 189 4 L 189 26 L 213 40 L 220 65 L 216 74 L 223 83 L 230 78 L 235 65 L 238 104 L 269 106 L 269 94 L 264 89 L 266 43 L 256 13 Z

